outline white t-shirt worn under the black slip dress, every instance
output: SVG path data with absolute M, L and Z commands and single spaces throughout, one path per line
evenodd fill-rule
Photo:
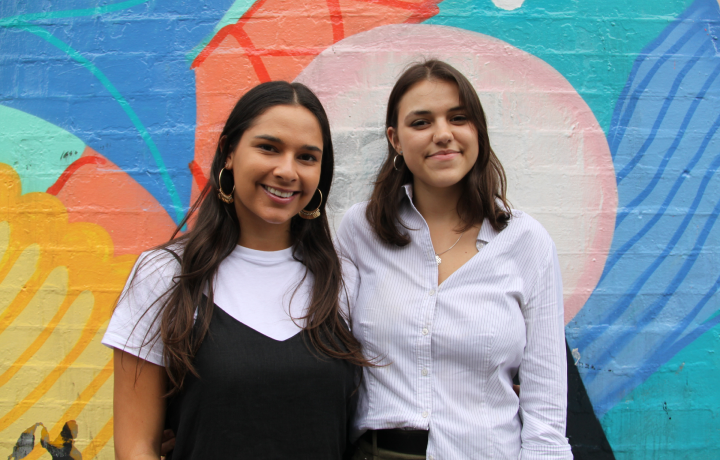
M 215 305 L 239 322 L 278 341 L 300 332 L 304 322 L 299 318 L 307 311 L 314 278 L 310 272 L 305 276 L 305 265 L 293 259 L 292 251 L 292 247 L 256 251 L 236 246 L 218 268 Z M 153 250 L 141 254 L 102 343 L 162 366 L 162 340 L 150 345 L 147 342 L 160 327 L 155 316 L 163 299 L 155 300 L 167 292 L 173 277 L 179 273 L 180 265 L 169 252 Z M 345 282 L 350 297 L 354 298 L 354 278 Z M 341 299 L 344 298 L 341 295 Z M 346 301 L 341 302 L 341 308 L 347 311 Z

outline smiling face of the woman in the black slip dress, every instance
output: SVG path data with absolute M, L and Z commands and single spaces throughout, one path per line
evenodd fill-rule
M 305 107 L 277 105 L 257 117 L 225 161 L 241 233 L 250 226 L 289 228 L 315 194 L 322 152 L 320 124 Z

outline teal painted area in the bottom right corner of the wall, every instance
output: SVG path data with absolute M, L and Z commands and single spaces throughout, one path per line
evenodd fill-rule
M 602 418 L 618 460 L 720 458 L 720 326 L 680 351 Z

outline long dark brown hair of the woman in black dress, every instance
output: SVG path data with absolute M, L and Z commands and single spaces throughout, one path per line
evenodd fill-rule
M 197 375 L 193 357 L 207 335 L 212 318 L 213 281 L 220 263 L 235 249 L 240 237 L 241 226 L 235 206 L 217 197 L 218 175 L 243 133 L 257 117 L 277 105 L 304 107 L 320 124 L 323 154 L 318 188 L 323 197 L 330 194 L 333 146 L 327 115 L 317 96 L 300 83 L 283 81 L 263 83 L 242 96 L 220 135 L 207 185 L 178 225 L 171 240 L 160 245 L 156 248 L 159 251 L 155 252 L 162 255 L 165 252 L 163 250 L 166 250 L 178 255 L 180 260 L 180 274 L 174 278 L 175 284 L 156 301 L 159 308 L 154 320 L 160 323 L 159 331 L 144 341 L 144 345 L 149 345 L 158 336 L 162 339 L 170 394 L 182 388 L 188 372 Z M 231 178 L 231 174 L 223 174 L 223 190 L 232 190 Z M 226 183 L 228 180 L 230 183 Z M 316 194 L 306 209 L 318 207 L 318 200 L 319 195 Z M 343 289 L 341 265 L 332 242 L 325 212 L 326 203 L 325 199 L 319 204 L 319 218 L 306 220 L 294 216 L 290 221 L 293 257 L 301 261 L 307 267 L 307 272 L 314 276 L 307 315 L 294 319 L 304 320 L 303 329 L 307 331 L 315 349 L 329 357 L 364 366 L 368 365 L 368 361 L 341 317 L 338 300 Z M 178 236 L 189 220 L 192 228 Z

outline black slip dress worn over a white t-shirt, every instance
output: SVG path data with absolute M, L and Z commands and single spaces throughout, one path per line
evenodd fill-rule
M 358 368 L 315 350 L 301 331 L 277 341 L 215 306 L 189 373 L 167 404 L 172 460 L 345 455 Z

